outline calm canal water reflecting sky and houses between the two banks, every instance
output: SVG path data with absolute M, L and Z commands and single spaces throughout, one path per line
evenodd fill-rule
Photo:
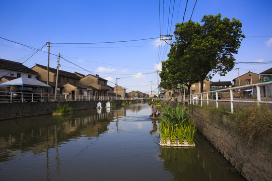
M 0 122 L 0 180 L 245 180 L 201 134 L 162 148 L 147 104 Z

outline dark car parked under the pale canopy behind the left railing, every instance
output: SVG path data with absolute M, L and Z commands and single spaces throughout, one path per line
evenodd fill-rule
M 41 101 L 41 96 L 33 93 L 32 91 L 23 90 L 22 92 L 22 90 L 17 90 L 12 93 L 7 93 L 6 99 L 10 102 L 13 102 L 13 101 L 31 102 L 32 100 L 39 102 Z

